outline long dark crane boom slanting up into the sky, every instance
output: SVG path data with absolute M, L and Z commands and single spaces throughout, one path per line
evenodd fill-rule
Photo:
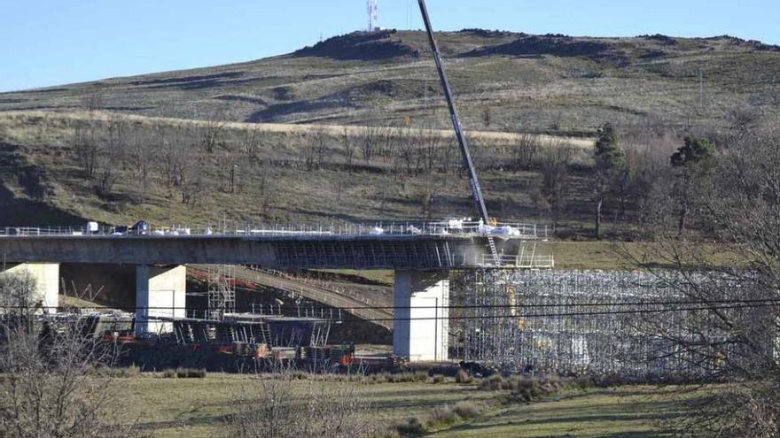
M 480 180 L 477 178 L 477 171 L 474 169 L 474 162 L 472 161 L 472 155 L 469 153 L 469 144 L 466 142 L 463 127 L 461 127 L 460 119 L 457 117 L 455 103 L 452 100 L 452 90 L 449 88 L 447 74 L 444 73 L 444 65 L 441 64 L 439 45 L 436 43 L 436 39 L 433 37 L 433 27 L 431 26 L 431 19 L 428 16 L 428 8 L 425 7 L 425 0 L 418 0 L 418 2 L 420 4 L 420 12 L 423 14 L 423 21 L 425 21 L 425 30 L 428 33 L 428 41 L 431 43 L 431 50 L 433 50 L 433 59 L 436 61 L 436 69 L 439 71 L 441 87 L 444 88 L 444 96 L 447 98 L 449 117 L 452 119 L 452 127 L 455 128 L 455 136 L 457 138 L 457 143 L 460 146 L 461 155 L 463 156 L 464 167 L 469 173 L 469 183 L 472 187 L 472 197 L 474 198 L 474 204 L 477 205 L 477 211 L 480 213 L 482 221 L 485 224 L 489 224 L 490 216 L 487 214 L 485 199 L 482 197 Z

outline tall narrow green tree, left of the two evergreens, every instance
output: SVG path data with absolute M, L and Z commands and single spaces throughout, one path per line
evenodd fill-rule
M 598 129 L 593 158 L 596 162 L 593 188 L 596 201 L 596 237 L 600 238 L 601 213 L 605 200 L 612 193 L 615 180 L 626 165 L 618 134 L 609 123 Z

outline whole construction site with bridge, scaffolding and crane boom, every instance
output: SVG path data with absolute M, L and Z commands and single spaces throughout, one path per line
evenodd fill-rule
M 133 351 L 129 363 L 153 369 L 206 355 L 211 358 L 200 365 L 231 370 L 247 360 L 363 369 L 462 361 L 502 373 L 641 380 L 711 376 L 725 356 L 739 356 L 728 348 L 680 350 L 681 341 L 697 343 L 690 327 L 721 335 L 707 308 L 683 305 L 688 294 L 675 287 L 679 280 L 556 271 L 548 227 L 500 222 L 487 211 L 425 2 L 419 5 L 476 219 L 231 229 L 224 223 L 222 229 L 152 227 L 144 220 L 132 227 L 94 221 L 79 229 L 6 227 L 0 250 L 12 265 L 4 271 L 35 275 L 42 319 L 94 319 L 90 334 L 122 342 Z M 366 32 L 381 32 L 376 1 L 368 2 L 368 14 Z M 135 294 L 127 286 L 113 291 L 121 302 L 115 308 L 124 312 L 61 309 L 63 290 L 83 289 L 76 280 L 91 288 L 106 280 L 99 272 L 114 269 L 84 267 L 98 264 L 128 271 L 114 280 L 135 276 Z M 391 272 L 392 280 L 351 281 L 343 273 L 363 270 Z M 771 350 L 772 340 L 757 342 Z M 722 342 L 729 344 L 728 333 Z M 355 343 L 392 343 L 392 353 L 360 354 Z M 161 353 L 171 350 L 176 353 Z

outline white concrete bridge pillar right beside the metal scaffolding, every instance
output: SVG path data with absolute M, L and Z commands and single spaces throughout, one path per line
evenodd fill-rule
M 410 361 L 448 359 L 448 273 L 396 271 L 393 353 Z

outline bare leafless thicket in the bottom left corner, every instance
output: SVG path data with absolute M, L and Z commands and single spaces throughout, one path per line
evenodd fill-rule
M 29 296 L 35 281 L 0 280 L 0 296 Z M 94 370 L 117 350 L 84 330 L 85 319 L 41 319 L 26 306 L 0 315 L 0 431 L 8 438 L 133 437 L 122 425 L 119 386 Z

